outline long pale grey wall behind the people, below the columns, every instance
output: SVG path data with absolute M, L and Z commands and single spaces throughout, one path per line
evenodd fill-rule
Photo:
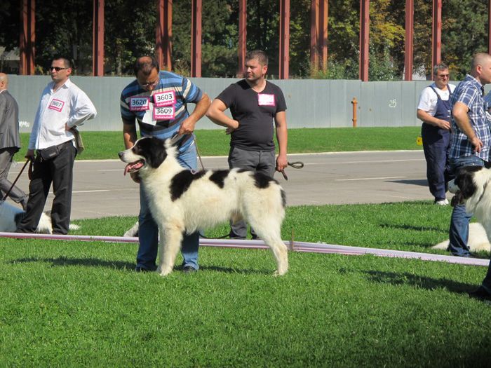
M 20 109 L 20 131 L 30 132 L 43 88 L 50 76 L 9 76 L 9 91 Z M 191 78 L 213 99 L 230 83 L 238 79 Z M 119 131 L 121 90 L 133 81 L 132 77 L 73 76 L 72 81 L 82 88 L 97 109 L 97 117 L 88 121 L 81 130 Z M 358 101 L 358 127 L 415 126 L 416 107 L 421 90 L 430 81 L 361 82 L 352 80 L 288 79 L 274 80 L 285 95 L 288 128 L 351 127 L 353 104 Z M 455 82 L 451 82 L 457 84 Z M 490 88 L 487 88 L 489 90 Z M 194 104 L 189 104 L 189 111 Z M 204 117 L 197 129 L 220 129 Z

